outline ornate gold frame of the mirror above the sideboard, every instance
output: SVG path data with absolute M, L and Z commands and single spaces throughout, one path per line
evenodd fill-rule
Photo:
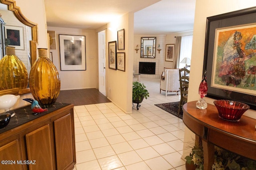
M 31 27 L 31 41 L 29 41 L 30 44 L 30 56 L 31 56 L 31 65 L 34 64 L 36 61 L 36 45 L 38 44 L 38 26 L 36 23 L 33 23 L 32 21 L 28 20 L 21 12 L 20 7 L 16 6 L 16 1 L 14 0 L 0 0 L 1 4 L 6 4 L 8 6 L 8 10 L 12 11 L 14 16 L 23 23 L 24 25 L 27 25 Z M 8 89 L 8 90 L 1 90 L 0 96 L 4 94 L 26 94 L 30 93 L 30 88 L 26 89 Z

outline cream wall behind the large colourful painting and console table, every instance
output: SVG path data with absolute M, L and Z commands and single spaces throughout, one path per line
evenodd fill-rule
M 189 82 L 189 89 L 194 90 L 189 91 L 188 102 L 198 100 L 200 98 L 198 90 L 196 89 L 198 89 L 200 81 L 202 80 L 202 74 L 198 73 L 202 73 L 203 70 L 206 18 L 253 6 L 256 6 L 255 0 L 196 0 Z M 206 102 L 210 104 L 213 104 L 213 101 L 213 99 L 206 98 Z M 248 115 L 256 119 L 256 111 L 248 110 L 244 115 Z M 193 136 L 194 135 L 192 135 L 188 129 L 185 129 L 183 156 L 188 155 L 188 150 L 186 150 L 186 143 L 188 141 L 192 141 L 191 137 Z

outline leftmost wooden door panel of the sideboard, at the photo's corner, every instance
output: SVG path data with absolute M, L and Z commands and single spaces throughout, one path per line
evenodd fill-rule
M 23 169 L 22 164 L 17 164 L 17 161 L 22 160 L 19 135 L 6 139 L 0 143 L 0 160 L 9 161 L 5 161 L 5 164 L 0 163 L 0 170 Z

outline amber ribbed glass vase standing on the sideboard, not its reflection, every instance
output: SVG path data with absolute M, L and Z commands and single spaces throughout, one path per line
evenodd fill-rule
M 29 74 L 30 91 L 41 107 L 48 108 L 60 94 L 60 75 L 47 49 L 38 49 L 38 57 Z

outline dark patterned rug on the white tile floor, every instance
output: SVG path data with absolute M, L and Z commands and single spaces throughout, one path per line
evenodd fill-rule
M 171 113 L 172 115 L 182 119 L 182 117 L 183 117 L 182 108 L 180 110 L 180 114 L 178 115 L 179 104 L 180 104 L 180 102 L 172 102 L 172 103 L 163 103 L 163 104 L 155 104 L 155 105 L 157 107 L 160 107 L 161 109 L 167 111 L 168 113 Z

